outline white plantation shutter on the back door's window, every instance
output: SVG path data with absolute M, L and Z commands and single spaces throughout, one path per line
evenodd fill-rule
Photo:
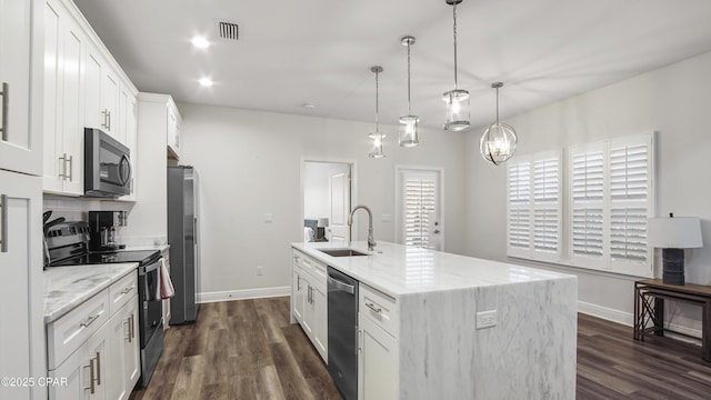
M 431 248 L 430 223 L 434 218 L 437 177 L 427 173 L 403 177 L 403 240 L 407 246 Z

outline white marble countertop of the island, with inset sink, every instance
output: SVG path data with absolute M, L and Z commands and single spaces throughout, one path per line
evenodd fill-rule
M 296 242 L 294 249 L 392 297 L 411 293 L 574 279 L 574 276 L 379 241 L 368 252 L 364 241 Z M 318 249 L 351 248 L 369 256 L 331 257 Z

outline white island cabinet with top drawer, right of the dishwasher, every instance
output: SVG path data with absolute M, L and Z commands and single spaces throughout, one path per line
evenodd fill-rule
M 358 399 L 397 399 L 395 299 L 362 283 L 358 297 Z

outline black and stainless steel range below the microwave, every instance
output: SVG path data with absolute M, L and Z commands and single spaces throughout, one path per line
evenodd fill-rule
M 90 251 L 89 224 L 62 222 L 47 229 L 49 267 L 138 262 L 141 380 L 146 387 L 163 352 L 162 301 L 159 292 L 160 251 Z

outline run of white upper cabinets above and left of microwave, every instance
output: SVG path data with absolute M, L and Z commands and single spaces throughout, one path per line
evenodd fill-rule
M 136 142 L 138 91 L 73 2 L 42 3 L 43 190 L 82 196 L 84 128 L 101 129 L 130 148 L 131 140 Z M 136 171 L 134 163 L 131 167 Z M 134 194 L 126 200 L 134 200 Z

